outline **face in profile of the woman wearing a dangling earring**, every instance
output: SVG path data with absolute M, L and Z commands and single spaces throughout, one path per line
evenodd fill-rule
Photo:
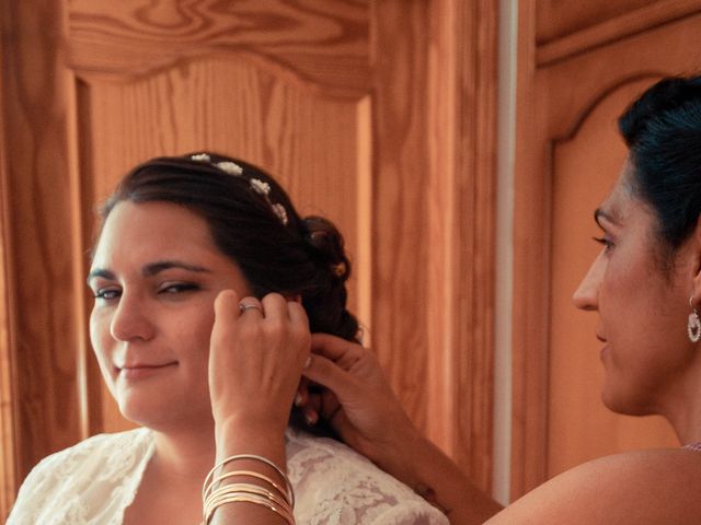
M 658 412 L 693 348 L 687 338 L 692 294 L 689 245 L 665 268 L 654 212 L 631 190 L 627 163 L 596 211 L 602 249 L 574 294 L 575 305 L 598 312 L 604 402 L 612 410 Z

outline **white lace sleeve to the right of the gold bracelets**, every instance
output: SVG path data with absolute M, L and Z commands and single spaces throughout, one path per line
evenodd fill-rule
M 409 487 L 334 440 L 288 432 L 300 525 L 448 525 Z

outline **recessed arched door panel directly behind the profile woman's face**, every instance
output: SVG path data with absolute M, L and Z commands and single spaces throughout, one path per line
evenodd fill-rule
M 600 400 L 604 369 L 594 337 L 598 317 L 574 308 L 572 294 L 601 249 L 593 212 L 625 159 L 616 118 L 650 81 L 627 83 L 553 148 L 548 476 L 621 450 L 670 445 L 662 418 L 617 416 Z M 627 315 L 621 312 L 621 315 Z

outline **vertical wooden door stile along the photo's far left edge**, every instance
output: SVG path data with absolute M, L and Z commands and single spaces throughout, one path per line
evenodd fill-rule
M 14 447 L 10 441 L 3 450 L 14 452 L 18 487 L 42 457 L 80 439 L 76 362 L 83 336 L 72 307 L 70 78 L 61 67 L 62 11 L 56 2 L 2 2 L 0 10 L 8 130 L 3 317 L 11 319 L 4 340 L 11 343 L 5 357 L 12 363 L 15 424 Z

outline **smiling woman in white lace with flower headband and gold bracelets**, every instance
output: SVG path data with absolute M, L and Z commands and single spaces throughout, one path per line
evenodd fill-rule
M 447 523 L 323 438 L 329 427 L 290 416 L 310 330 L 358 332 L 331 222 L 300 218 L 263 171 L 212 153 L 137 166 L 102 219 L 90 337 L 140 428 L 44 459 L 8 523 Z

